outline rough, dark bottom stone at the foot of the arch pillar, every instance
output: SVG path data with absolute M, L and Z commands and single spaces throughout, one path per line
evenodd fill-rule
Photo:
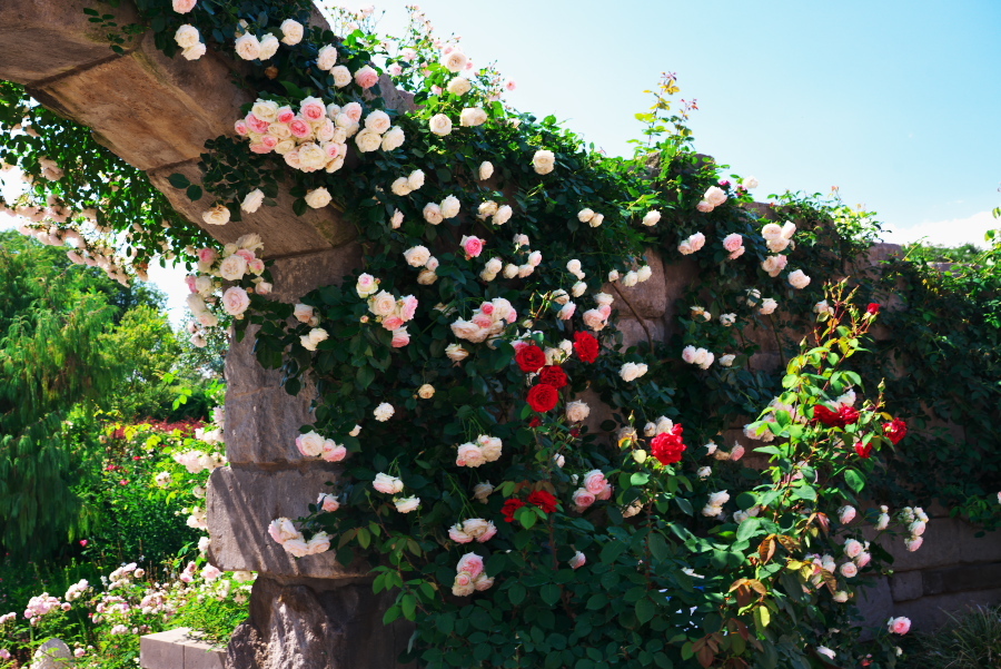
M 250 618 L 229 645 L 227 669 L 392 669 L 412 626 L 378 621 L 392 599 L 373 596 L 366 580 L 317 591 L 259 577 Z

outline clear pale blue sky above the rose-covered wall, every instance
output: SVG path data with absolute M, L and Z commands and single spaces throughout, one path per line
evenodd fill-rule
M 894 242 L 999 227 L 999 0 L 417 1 L 439 37 L 517 82 L 514 106 L 608 154 L 630 151 L 643 90 L 670 70 L 698 101 L 695 148 L 756 176 L 759 199 L 836 185 Z M 383 9 L 380 30 L 399 32 L 404 3 Z M 179 273 L 153 279 L 181 304 Z

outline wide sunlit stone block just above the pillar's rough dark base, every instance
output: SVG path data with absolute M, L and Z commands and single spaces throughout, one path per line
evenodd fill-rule
M 227 417 L 227 422 L 230 419 Z M 219 468 L 212 472 L 207 495 L 209 560 L 224 571 L 259 571 L 275 577 L 339 579 L 364 575 L 359 564 L 346 569 L 334 553 L 296 559 L 268 535 L 276 518 L 293 520 L 308 513 L 328 481 L 336 481 L 340 468 L 323 461 L 308 468 L 262 471 Z

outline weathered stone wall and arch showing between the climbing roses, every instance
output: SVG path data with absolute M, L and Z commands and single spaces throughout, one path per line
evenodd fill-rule
M 212 52 L 194 62 L 168 60 L 148 35 L 125 55 L 115 55 L 86 20 L 87 6 L 80 0 L 0 2 L 0 78 L 27 85 L 47 107 L 93 128 L 101 144 L 147 170 L 177 209 L 200 225 L 209 198 L 192 204 L 166 179 L 179 171 L 192 183 L 200 180 L 197 161 L 205 140 L 230 131 L 238 107 L 249 100 L 230 82 L 231 68 L 239 66 Z M 108 11 L 107 6 L 100 8 Z M 136 20 L 127 2 L 118 14 L 120 23 Z M 179 118 L 185 122 L 175 122 Z M 351 243 L 354 230 L 331 208 L 294 216 L 287 191 L 278 201 L 278 207 L 264 207 L 241 223 L 208 232 L 220 242 L 258 233 L 266 257 L 275 260 L 276 296 L 293 303 L 316 286 L 340 281 L 358 264 L 359 249 Z M 875 247 L 869 264 L 892 250 L 889 245 Z M 677 301 L 697 278 L 692 260 L 666 269 L 656 253 L 648 260 L 653 277 L 645 284 L 606 287 L 620 298 L 627 345 L 670 337 Z M 781 356 L 774 336 L 757 332 L 752 337 L 761 346 L 752 366 L 775 368 Z M 300 515 L 339 469 L 303 461 L 294 441 L 311 422 L 309 390 L 289 396 L 278 373 L 260 368 L 251 350 L 252 333 L 234 342 L 227 356 L 225 437 L 230 466 L 214 473 L 208 494 L 209 559 L 225 570 L 260 574 L 250 619 L 235 634 L 227 666 L 394 667 L 408 629 L 383 629 L 386 602 L 371 594 L 365 565 L 344 569 L 333 553 L 296 561 L 267 537 L 271 519 Z M 936 514 L 921 551 L 889 547 L 898 555 L 896 572 L 870 592 L 872 620 L 881 623 L 891 614 L 905 614 L 918 629 L 926 629 L 943 620 L 940 608 L 1001 600 L 1001 537 L 972 534 L 960 521 Z

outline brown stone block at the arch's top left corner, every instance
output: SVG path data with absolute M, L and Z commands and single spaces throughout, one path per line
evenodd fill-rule
M 130 3 L 111 9 L 92 0 L 0 2 L 0 79 L 32 86 L 119 58 L 111 51 L 107 30 L 91 23 L 85 8 L 113 13 L 119 26 L 139 20 Z

